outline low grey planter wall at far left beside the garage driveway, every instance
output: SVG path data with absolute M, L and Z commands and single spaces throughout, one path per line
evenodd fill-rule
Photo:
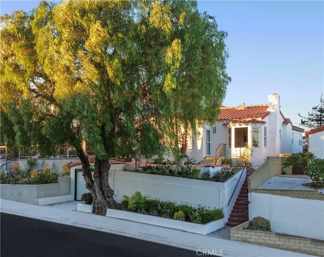
M 61 196 L 65 197 L 61 199 Z M 1 184 L 1 198 L 34 205 L 73 200 L 70 195 L 70 177 L 59 177 L 58 183 L 53 184 Z

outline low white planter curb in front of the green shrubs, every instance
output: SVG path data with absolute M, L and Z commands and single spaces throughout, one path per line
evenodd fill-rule
M 179 229 L 186 232 L 206 235 L 217 229 L 224 227 L 226 219 L 220 219 L 218 221 L 209 222 L 207 224 L 196 224 L 185 221 L 178 221 L 173 219 L 161 218 L 151 215 L 132 213 L 127 211 L 107 209 L 106 217 L 117 218 L 135 222 L 141 222 L 145 224 L 162 226 L 167 228 Z

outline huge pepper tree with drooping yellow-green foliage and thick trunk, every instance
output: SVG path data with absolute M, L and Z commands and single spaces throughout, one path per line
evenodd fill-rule
M 1 24 L 4 138 L 73 145 L 101 215 L 116 207 L 109 158 L 176 153 L 180 128 L 216 120 L 230 80 L 227 34 L 194 1 L 42 2 Z

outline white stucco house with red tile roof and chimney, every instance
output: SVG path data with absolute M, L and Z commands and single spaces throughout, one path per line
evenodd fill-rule
M 278 94 L 268 95 L 268 100 L 264 105 L 222 107 L 215 124 L 189 137 L 187 155 L 196 161 L 221 155 L 235 162 L 248 145 L 257 168 L 267 157 L 302 151 L 304 129 L 282 114 Z

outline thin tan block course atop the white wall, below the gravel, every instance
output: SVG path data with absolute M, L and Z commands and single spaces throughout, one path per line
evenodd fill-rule
M 324 200 L 324 194 L 318 193 L 317 190 L 251 189 L 249 192 L 290 196 L 301 199 Z

